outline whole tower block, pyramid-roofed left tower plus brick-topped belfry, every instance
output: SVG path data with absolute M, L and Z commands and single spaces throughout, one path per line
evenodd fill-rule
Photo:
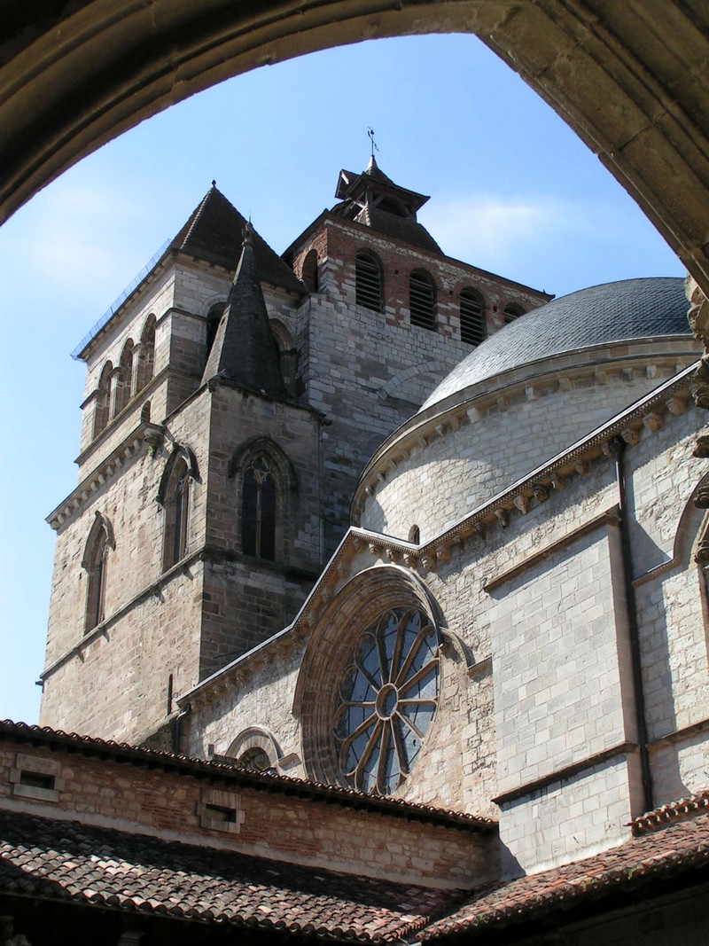
M 43 724 L 170 745 L 175 697 L 293 620 L 372 451 L 548 299 L 442 254 L 373 158 L 337 198 L 281 258 L 213 185 L 78 352 Z

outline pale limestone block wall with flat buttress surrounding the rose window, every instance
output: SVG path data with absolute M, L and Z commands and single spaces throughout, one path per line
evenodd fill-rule
M 705 475 L 705 461 L 691 456 L 701 423 L 693 410 L 666 413 L 665 426 L 646 426 L 627 447 L 628 509 L 638 518 L 633 548 L 640 534 L 661 536 L 661 523 L 674 522 L 677 531 L 688 495 Z M 677 471 L 672 485 L 643 499 L 667 469 Z M 510 874 L 612 846 L 645 804 L 613 524 L 617 500 L 614 461 L 599 456 L 562 491 L 532 500 L 525 514 L 514 511 L 506 528 L 472 535 L 435 570 L 416 566 L 440 608 L 445 645 L 439 710 L 400 794 L 499 816 Z M 689 532 L 696 533 L 704 513 L 692 516 Z M 667 541 L 670 532 L 667 527 Z M 335 622 L 329 646 L 337 647 L 337 589 L 389 561 L 384 539 L 377 544 L 372 535 L 358 548 L 328 590 L 334 597 L 324 613 Z M 686 581 L 688 555 L 674 571 L 655 576 L 654 590 L 650 581 L 636 582 L 658 804 L 705 787 L 707 779 L 707 602 L 695 565 L 697 580 Z M 658 598 L 658 585 L 670 581 L 666 598 Z M 653 608 L 666 612 L 662 628 L 653 624 Z M 273 735 L 294 773 L 308 770 L 303 745 L 312 739 L 305 740 L 292 713 L 305 626 L 245 658 L 213 696 L 196 698 L 187 722 L 190 751 L 208 752 L 211 745 L 226 753 L 239 733 L 257 726 Z M 666 706 L 683 713 L 678 738 L 657 738 L 666 733 Z

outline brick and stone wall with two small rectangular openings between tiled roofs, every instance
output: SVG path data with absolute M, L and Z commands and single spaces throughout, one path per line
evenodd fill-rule
M 13 796 L 10 770 L 19 764 L 43 771 L 47 762 L 61 785 L 58 799 Z M 233 824 L 200 818 L 199 806 L 215 793 L 216 803 L 235 808 L 235 831 L 224 830 Z M 497 867 L 491 832 L 367 811 L 333 798 L 299 797 L 279 791 L 277 783 L 259 790 L 248 777 L 219 765 L 198 775 L 3 741 L 0 806 L 417 885 L 467 887 L 492 879 Z

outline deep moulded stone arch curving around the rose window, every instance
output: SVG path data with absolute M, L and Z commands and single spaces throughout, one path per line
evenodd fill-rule
M 342 782 L 333 737 L 338 683 L 359 636 L 396 608 L 420 609 L 441 635 L 444 622 L 438 603 L 417 575 L 397 565 L 377 565 L 355 575 L 313 629 L 293 699 L 293 715 L 301 723 L 306 778 Z

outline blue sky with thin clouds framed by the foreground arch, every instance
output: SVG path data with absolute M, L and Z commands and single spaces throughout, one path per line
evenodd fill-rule
M 560 118 L 475 38 L 357 44 L 267 66 L 160 114 L 71 168 L 0 229 L 0 718 L 37 722 L 54 534 L 76 484 L 82 365 L 69 352 L 174 236 L 213 178 L 283 252 L 340 167 L 431 195 L 447 254 L 562 295 L 683 275 Z

